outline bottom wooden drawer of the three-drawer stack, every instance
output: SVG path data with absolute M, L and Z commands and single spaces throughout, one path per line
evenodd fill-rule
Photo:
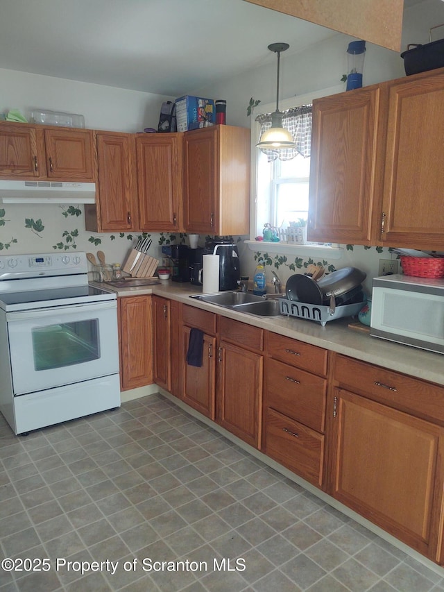
M 322 434 L 268 408 L 263 452 L 316 487 L 321 487 L 324 456 Z

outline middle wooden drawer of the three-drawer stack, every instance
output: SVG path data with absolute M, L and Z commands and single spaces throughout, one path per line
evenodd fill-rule
M 266 360 L 265 405 L 324 431 L 327 380 L 276 360 Z

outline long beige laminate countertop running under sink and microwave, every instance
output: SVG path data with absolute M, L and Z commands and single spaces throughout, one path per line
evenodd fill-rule
M 227 316 L 235 321 L 241 321 L 279 335 L 299 339 L 314 346 L 348 355 L 363 362 L 376 364 L 386 369 L 444 385 L 444 355 L 395 344 L 377 337 L 370 337 L 366 332 L 350 329 L 348 324 L 354 320 L 350 317 L 330 321 L 323 327 L 317 321 L 296 319 L 291 316 L 278 316 L 272 319 L 253 316 L 206 303 L 198 300 L 198 298 L 190 298 L 190 296 L 202 294 L 202 289 L 189 283 L 180 284 L 171 282 L 171 280 L 160 280 L 158 284 L 146 287 L 116 288 L 110 284 L 96 282 L 92 282 L 92 285 L 106 291 L 113 291 L 117 296 L 121 297 L 141 294 L 163 296 L 201 310 Z

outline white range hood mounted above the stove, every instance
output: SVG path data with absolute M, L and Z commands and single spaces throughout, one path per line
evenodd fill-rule
M 96 203 L 96 184 L 0 180 L 3 203 Z

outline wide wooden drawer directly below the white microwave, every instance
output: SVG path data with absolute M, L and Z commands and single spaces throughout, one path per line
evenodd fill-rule
M 341 386 L 444 425 L 444 387 L 338 355 L 334 378 Z

